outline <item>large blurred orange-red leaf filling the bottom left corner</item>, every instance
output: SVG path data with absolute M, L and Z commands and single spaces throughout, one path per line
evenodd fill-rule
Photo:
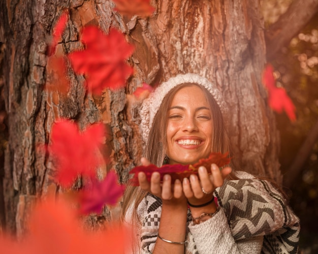
M 102 231 L 84 230 L 76 210 L 61 199 L 36 205 L 28 228 L 28 233 L 19 241 L 1 236 L 2 253 L 124 253 L 129 244 L 128 229 L 123 226 L 110 224 Z

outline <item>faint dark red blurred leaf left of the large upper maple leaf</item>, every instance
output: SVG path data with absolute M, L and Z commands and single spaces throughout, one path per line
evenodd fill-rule
M 46 64 L 45 89 L 67 94 L 70 82 L 66 77 L 66 57 L 50 55 Z

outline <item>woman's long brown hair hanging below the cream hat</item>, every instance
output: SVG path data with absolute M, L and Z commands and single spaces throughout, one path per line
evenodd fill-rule
M 166 155 L 167 110 L 170 107 L 176 92 L 181 88 L 188 86 L 200 87 L 209 104 L 209 109 L 213 119 L 212 152 L 229 152 L 230 156 L 233 156 L 221 110 L 215 102 L 214 98 L 212 97 L 212 94 L 202 85 L 185 83 L 177 85 L 169 91 L 169 93 L 163 99 L 163 102 L 160 108 L 158 109 L 158 112 L 154 116 L 144 156 L 148 158 L 148 160 L 157 167 L 161 167 L 163 165 L 164 157 Z M 233 172 L 234 168 L 237 169 L 237 163 L 234 157 L 232 157 L 229 166 L 232 167 L 232 173 L 228 176 L 228 179 L 238 179 L 237 177 L 235 177 L 235 174 Z M 147 192 L 142 190 L 140 187 L 128 185 L 123 196 L 122 215 L 124 216 L 128 208 L 134 203 L 133 218 L 138 218 L 138 205 L 146 195 Z

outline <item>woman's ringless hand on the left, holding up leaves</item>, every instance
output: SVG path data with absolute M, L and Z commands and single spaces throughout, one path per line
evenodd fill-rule
M 148 166 L 150 162 L 142 157 L 141 163 L 143 166 Z M 143 190 L 153 194 L 162 199 L 163 203 L 182 203 L 186 205 L 186 198 L 183 194 L 182 183 L 180 180 L 175 180 L 171 183 L 171 176 L 164 175 L 163 182 L 160 182 L 160 173 L 154 172 L 151 175 L 150 182 L 148 182 L 144 172 L 138 173 L 139 185 Z

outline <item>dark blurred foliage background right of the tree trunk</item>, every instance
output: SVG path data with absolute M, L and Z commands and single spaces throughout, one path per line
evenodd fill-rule
M 262 1 L 265 26 L 288 10 L 292 0 Z M 301 221 L 303 253 L 318 252 L 318 15 L 270 61 L 277 86 L 287 90 L 297 120 L 276 114 L 281 146 L 279 162 L 291 206 Z M 292 173 L 293 172 L 293 173 Z

